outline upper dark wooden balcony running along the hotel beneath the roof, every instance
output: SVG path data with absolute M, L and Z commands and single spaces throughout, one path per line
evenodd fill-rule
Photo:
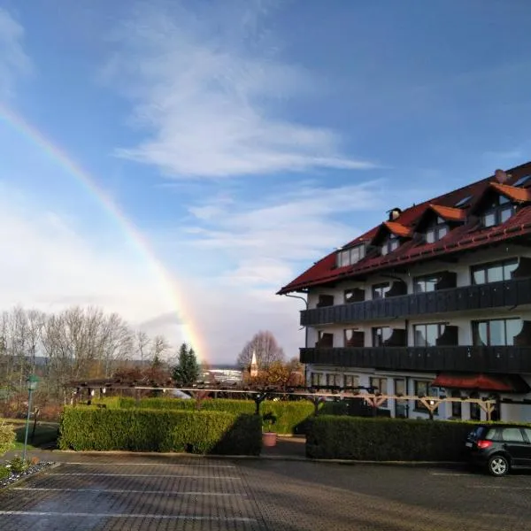
M 301 312 L 301 326 L 355 323 L 430 313 L 466 312 L 531 303 L 531 278 L 439 289 Z

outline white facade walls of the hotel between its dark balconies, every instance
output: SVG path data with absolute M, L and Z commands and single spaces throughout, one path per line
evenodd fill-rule
M 319 295 L 334 296 L 334 304 L 344 304 L 344 290 L 345 289 L 364 289 L 365 300 L 370 301 L 373 296 L 373 285 L 393 281 L 402 280 L 407 285 L 407 294 L 413 293 L 413 281 L 419 276 L 428 275 L 430 273 L 441 273 L 443 271 L 450 271 L 457 275 L 457 287 L 470 286 L 472 282 L 471 266 L 481 264 L 488 264 L 512 258 L 527 257 L 531 258 L 531 250 L 528 247 L 517 246 L 513 244 L 503 244 L 496 249 L 476 250 L 467 252 L 458 257 L 458 262 L 452 263 L 450 261 L 434 260 L 428 263 L 412 265 L 408 273 L 393 273 L 389 275 L 375 273 L 370 275 L 365 282 L 360 281 L 342 281 L 338 282 L 334 288 L 322 287 L 310 289 L 308 292 L 308 308 L 316 308 L 319 302 Z M 364 333 L 364 345 L 366 347 L 373 347 L 373 327 L 392 327 L 403 328 L 406 332 L 407 345 L 413 346 L 415 344 L 414 327 L 418 324 L 439 323 L 450 325 L 458 328 L 458 345 L 466 346 L 473 345 L 473 321 L 485 319 L 512 319 L 518 318 L 522 321 L 531 321 L 531 304 L 520 305 L 514 308 L 499 307 L 489 309 L 478 309 L 467 312 L 444 312 L 440 314 L 427 314 L 425 316 L 405 316 L 399 319 L 378 319 L 371 321 L 361 321 L 352 323 L 330 323 L 315 327 L 308 327 L 307 329 L 307 348 L 316 347 L 319 339 L 319 332 L 333 335 L 334 347 L 345 347 L 344 330 L 356 329 Z M 531 345 L 529 345 L 531 346 Z M 356 381 L 355 385 L 360 387 L 369 387 L 371 379 L 382 378 L 386 379 L 387 389 L 384 394 L 393 395 L 396 393 L 396 384 L 403 387 L 400 392 L 408 395 L 416 395 L 416 385 L 421 385 L 419 382 L 429 382 L 435 380 L 436 373 L 413 373 L 411 371 L 375 371 L 371 369 L 362 369 L 356 367 L 339 367 L 333 365 L 312 365 L 306 366 L 306 377 L 308 385 L 353 385 L 352 381 Z M 524 381 L 531 387 L 531 374 L 521 375 Z M 347 378 L 345 377 L 352 377 Z M 345 382 L 347 382 L 345 384 Z M 381 390 L 381 389 L 380 389 Z M 472 389 L 430 389 L 433 396 L 435 393 L 439 396 L 470 396 Z M 491 396 L 492 393 L 480 392 L 475 397 Z M 500 394 L 501 404 L 499 405 L 500 418 L 503 420 L 527 420 L 531 421 L 531 404 L 521 404 L 522 400 L 531 399 L 531 394 L 526 396 L 515 394 Z M 505 399 L 511 399 L 514 403 L 504 403 Z M 401 407 L 396 408 L 395 401 L 389 400 L 386 404 L 386 409 L 389 409 L 391 416 L 396 416 L 397 412 L 408 418 L 425 419 L 428 414 L 422 408 L 416 407 L 415 401 L 410 400 L 407 403 L 402 401 Z M 404 415 L 404 406 L 405 415 Z M 473 406 L 474 407 L 474 406 Z M 439 406 L 435 418 L 439 419 L 471 419 L 478 418 L 478 408 L 474 410 L 475 415 L 471 414 L 471 404 L 469 403 L 443 403 Z M 479 411 L 481 419 L 486 419 L 486 414 Z

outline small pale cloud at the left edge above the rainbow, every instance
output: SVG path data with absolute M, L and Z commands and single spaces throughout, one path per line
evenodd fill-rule
M 19 75 L 31 70 L 22 41 L 24 28 L 0 7 L 0 100 L 12 96 Z

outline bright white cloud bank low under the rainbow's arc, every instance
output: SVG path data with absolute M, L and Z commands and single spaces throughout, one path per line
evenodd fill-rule
M 56 312 L 91 304 L 119 312 L 132 326 L 172 310 L 164 295 L 167 286 L 160 285 L 140 253 L 116 242 L 112 248 L 104 246 L 81 234 L 73 219 L 49 212 L 5 186 L 0 192 L 4 310 L 21 304 Z M 173 312 L 166 333 L 174 334 L 178 325 L 179 317 Z M 173 335 L 173 339 L 180 338 Z

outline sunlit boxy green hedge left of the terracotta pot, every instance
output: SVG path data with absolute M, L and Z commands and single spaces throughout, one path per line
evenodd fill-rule
M 61 450 L 219 455 L 258 455 L 261 444 L 261 420 L 256 415 L 93 406 L 65 407 L 58 440 Z

